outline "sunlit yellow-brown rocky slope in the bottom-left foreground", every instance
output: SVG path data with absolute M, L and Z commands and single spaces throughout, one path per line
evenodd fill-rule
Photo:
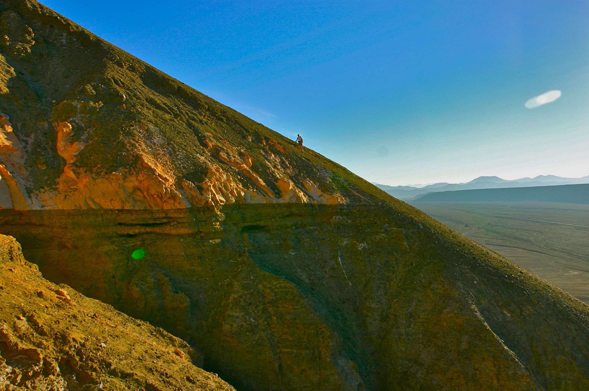
M 0 235 L 4 390 L 233 390 L 186 342 L 45 280 Z

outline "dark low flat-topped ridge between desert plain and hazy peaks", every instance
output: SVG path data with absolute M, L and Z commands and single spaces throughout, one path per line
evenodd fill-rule
M 416 197 L 413 201 L 541 201 L 551 203 L 589 204 L 589 184 L 438 191 L 423 194 L 422 196 Z

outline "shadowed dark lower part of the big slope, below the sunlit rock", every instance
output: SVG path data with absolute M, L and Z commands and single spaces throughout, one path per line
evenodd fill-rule
M 391 207 L 1 216 L 50 279 L 182 337 L 237 389 L 589 386 L 585 304 Z

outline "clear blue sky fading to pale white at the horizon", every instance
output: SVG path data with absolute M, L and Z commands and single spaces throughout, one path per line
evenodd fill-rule
M 370 181 L 589 174 L 589 1 L 42 2 Z

